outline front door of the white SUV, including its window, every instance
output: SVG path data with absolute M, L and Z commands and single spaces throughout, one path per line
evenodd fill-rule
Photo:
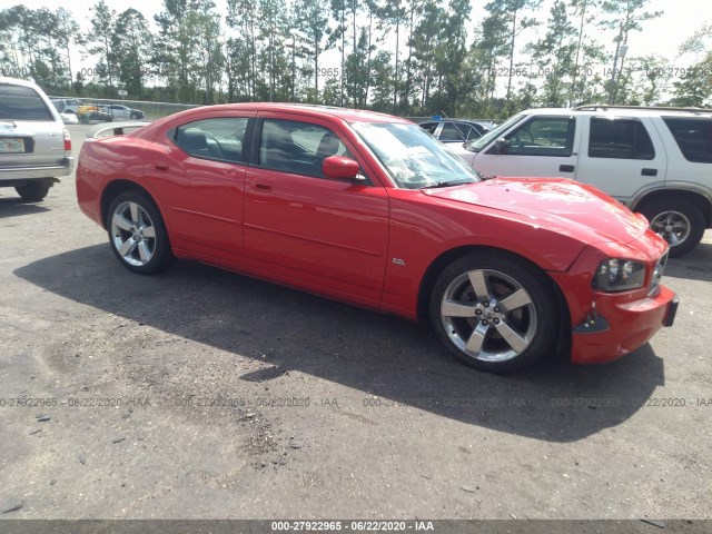
M 503 152 L 493 142 L 477 154 L 473 166 L 487 176 L 574 178 L 578 129 L 575 117 L 532 116 L 504 135 Z

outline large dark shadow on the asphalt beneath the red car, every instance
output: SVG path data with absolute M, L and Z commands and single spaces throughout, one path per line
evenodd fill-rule
M 62 273 L 62 276 L 57 276 Z M 297 370 L 472 425 L 551 442 L 615 426 L 664 384 L 650 345 L 617 362 L 552 360 L 497 376 L 455 362 L 429 328 L 281 286 L 179 261 L 144 277 L 121 267 L 108 245 L 40 259 L 14 275 L 96 307 L 233 354 L 271 364 L 241 379 Z

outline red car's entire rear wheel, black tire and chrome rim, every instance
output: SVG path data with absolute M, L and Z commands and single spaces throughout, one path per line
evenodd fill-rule
M 164 218 L 144 192 L 117 196 L 107 211 L 106 226 L 111 250 L 127 269 L 139 275 L 154 275 L 174 264 L 176 258 Z

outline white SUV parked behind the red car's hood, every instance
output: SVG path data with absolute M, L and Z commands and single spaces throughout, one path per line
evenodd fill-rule
M 530 109 L 453 151 L 484 175 L 591 184 L 645 215 L 671 256 L 712 227 L 712 110 Z

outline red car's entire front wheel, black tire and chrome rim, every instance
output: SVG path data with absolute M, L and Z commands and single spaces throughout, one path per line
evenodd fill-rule
M 437 278 L 431 294 L 431 323 L 459 362 L 490 373 L 520 369 L 554 353 L 558 308 L 551 284 L 514 255 L 468 254 Z

